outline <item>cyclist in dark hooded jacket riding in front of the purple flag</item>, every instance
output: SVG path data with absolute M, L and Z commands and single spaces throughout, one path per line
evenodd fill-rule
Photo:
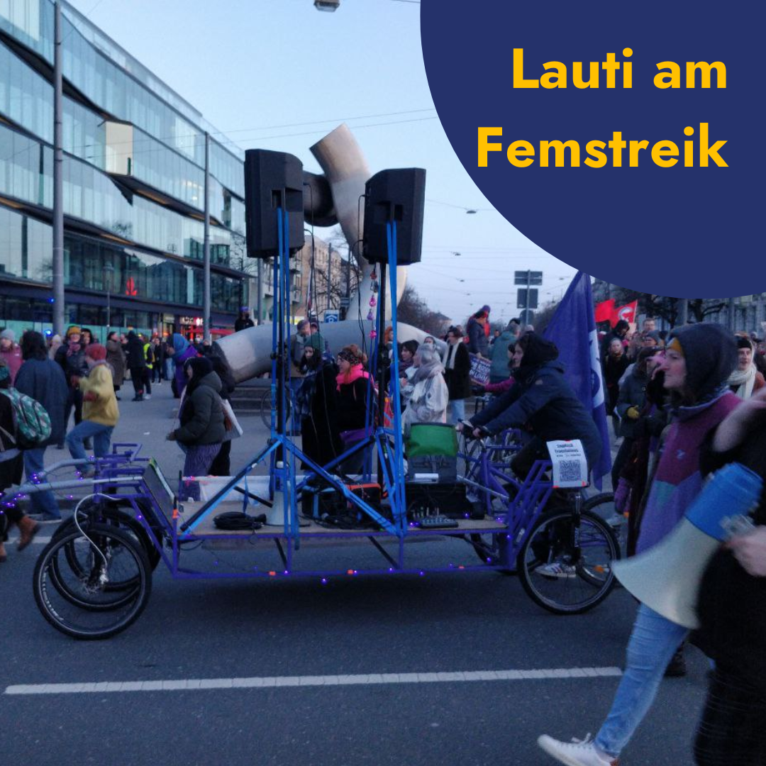
M 572 391 L 557 358 L 554 343 L 525 332 L 509 363 L 514 384 L 470 420 L 476 438 L 513 427 L 532 430 L 532 439 L 511 462 L 513 472 L 522 478 L 535 460 L 548 460 L 547 441 L 579 439 L 589 470 L 601 455 L 601 435 L 593 417 Z M 459 425 L 457 430 L 463 427 Z

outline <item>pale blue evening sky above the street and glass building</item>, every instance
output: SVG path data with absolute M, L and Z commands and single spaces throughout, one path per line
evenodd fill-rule
M 425 168 L 423 257 L 408 281 L 431 309 L 463 322 L 488 304 L 507 321 L 519 314 L 515 270 L 543 272 L 541 304 L 574 276 L 457 159 L 430 97 L 416 2 L 341 0 L 335 13 L 313 0 L 69 2 L 242 149 L 290 152 L 320 172 L 309 147 L 345 122 L 373 173 Z

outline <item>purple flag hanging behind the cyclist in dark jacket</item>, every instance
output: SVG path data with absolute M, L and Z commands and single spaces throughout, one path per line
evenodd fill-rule
M 565 365 L 565 378 L 584 407 L 593 412 L 603 444 L 601 457 L 593 466 L 594 483 L 601 489 L 601 476 L 611 470 L 612 455 L 588 274 L 578 271 L 543 335 L 558 346 L 558 358 Z

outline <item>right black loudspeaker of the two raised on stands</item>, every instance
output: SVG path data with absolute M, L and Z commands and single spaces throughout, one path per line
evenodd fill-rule
M 362 254 L 371 264 L 388 263 L 386 224 L 396 221 L 396 260 L 417 264 L 423 244 L 426 172 L 421 168 L 381 170 L 365 186 Z

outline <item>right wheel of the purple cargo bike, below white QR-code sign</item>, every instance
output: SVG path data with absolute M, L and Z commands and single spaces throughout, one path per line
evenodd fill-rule
M 574 524 L 567 510 L 541 516 L 516 559 L 524 590 L 554 614 L 582 614 L 614 588 L 620 548 L 611 526 L 590 511 Z

